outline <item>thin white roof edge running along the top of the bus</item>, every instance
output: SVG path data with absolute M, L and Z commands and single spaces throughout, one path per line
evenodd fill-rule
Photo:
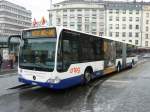
M 23 29 L 22 31 L 34 30 L 34 29 L 42 29 L 42 28 L 56 28 L 56 31 L 59 31 L 59 32 L 61 32 L 63 29 L 65 29 L 65 30 L 70 30 L 70 31 L 78 32 L 78 33 L 83 33 L 83 34 L 95 36 L 95 37 L 100 37 L 100 38 L 104 38 L 104 39 L 109 39 L 109 40 L 113 40 L 113 41 L 117 41 L 117 42 L 121 42 L 121 43 L 126 43 L 126 44 L 130 44 L 130 45 L 135 45 L 135 44 L 132 44 L 132 43 L 129 43 L 129 42 L 121 41 L 121 40 L 119 40 L 118 38 L 111 38 L 111 37 L 107 37 L 107 36 L 98 36 L 98 35 L 94 35 L 94 34 L 82 32 L 82 31 L 78 31 L 78 30 L 75 30 L 75 29 L 70 29 L 70 28 L 66 28 L 66 27 L 62 27 L 62 26 L 41 26 L 41 27 L 32 27 L 32 28 Z M 136 46 L 136 45 L 135 45 L 135 46 Z

